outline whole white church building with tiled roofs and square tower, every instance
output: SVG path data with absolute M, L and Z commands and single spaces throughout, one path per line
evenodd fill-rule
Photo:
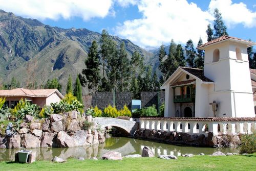
M 164 116 L 255 117 L 256 71 L 249 69 L 247 56 L 254 44 L 222 36 L 199 46 L 205 51 L 204 69 L 179 67 L 161 86 Z

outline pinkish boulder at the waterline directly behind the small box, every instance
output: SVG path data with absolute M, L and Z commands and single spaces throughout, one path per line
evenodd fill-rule
M 24 146 L 24 148 L 38 148 L 38 147 L 40 147 L 40 140 L 36 137 L 36 136 L 34 136 L 34 135 L 32 135 L 32 134 L 30 134 L 30 133 L 27 133 L 27 134 L 22 134 L 21 135 L 21 139 L 22 139 L 22 146 Z

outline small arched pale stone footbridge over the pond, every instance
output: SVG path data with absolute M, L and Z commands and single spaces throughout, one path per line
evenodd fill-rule
M 127 135 L 133 135 L 137 128 L 139 128 L 139 123 L 136 123 L 136 121 L 112 117 L 95 117 L 93 121 L 100 124 L 102 130 L 105 130 L 105 127 L 112 126 Z

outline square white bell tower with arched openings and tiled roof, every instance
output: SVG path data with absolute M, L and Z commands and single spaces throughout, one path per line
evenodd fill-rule
M 247 55 L 254 44 L 224 35 L 198 47 L 205 51 L 204 76 L 214 81 L 208 99 L 219 104 L 217 117 L 255 116 Z

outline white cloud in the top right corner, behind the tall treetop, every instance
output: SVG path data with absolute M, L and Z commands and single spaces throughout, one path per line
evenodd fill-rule
M 256 27 L 256 12 L 249 10 L 244 3 L 232 3 L 231 0 L 211 0 L 209 12 L 213 14 L 215 8 L 222 13 L 222 18 L 228 28 L 239 23 L 247 28 Z

